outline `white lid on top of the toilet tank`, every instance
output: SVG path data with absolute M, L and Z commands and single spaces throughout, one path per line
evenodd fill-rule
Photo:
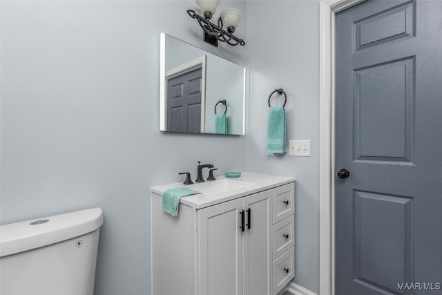
M 82 236 L 102 224 L 102 209 L 93 208 L 1 225 L 0 257 Z

